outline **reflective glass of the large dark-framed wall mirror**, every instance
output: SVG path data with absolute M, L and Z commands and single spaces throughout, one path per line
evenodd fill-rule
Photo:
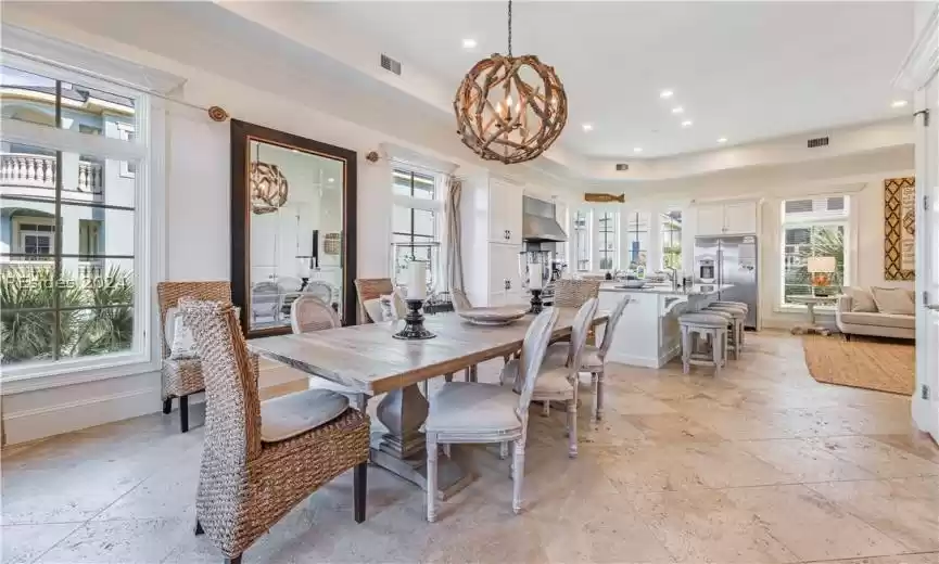
M 249 143 L 250 330 L 290 325 L 303 293 L 342 316 L 342 161 Z

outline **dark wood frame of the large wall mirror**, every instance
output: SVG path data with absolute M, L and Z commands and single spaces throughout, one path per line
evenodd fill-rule
M 251 330 L 251 200 L 248 188 L 251 142 L 258 141 L 305 153 L 342 161 L 345 167 L 342 195 L 342 322 L 355 324 L 356 277 L 356 162 L 355 151 L 320 143 L 238 119 L 231 120 L 231 297 L 241 308 L 241 328 L 245 337 L 290 333 L 287 326 Z

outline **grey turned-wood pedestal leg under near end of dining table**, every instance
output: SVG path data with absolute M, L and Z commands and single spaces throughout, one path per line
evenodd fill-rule
M 411 384 L 390 392 L 379 402 L 378 420 L 388 433 L 373 433 L 371 462 L 389 472 L 427 488 L 427 443 L 420 431 L 427 419 L 428 402 Z M 447 499 L 473 479 L 470 454 L 454 445 L 451 457 L 437 457 L 437 496 Z

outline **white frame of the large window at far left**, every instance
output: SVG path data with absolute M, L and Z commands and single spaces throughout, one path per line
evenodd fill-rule
M 74 152 L 97 156 L 102 159 L 135 161 L 138 163 L 135 175 L 135 249 L 134 249 L 134 343 L 129 350 L 103 356 L 67 358 L 55 361 L 24 362 L 3 367 L 0 382 L 2 395 L 17 394 L 36 389 L 93 382 L 115 376 L 128 376 L 160 369 L 157 351 L 158 334 L 155 300 L 151 289 L 163 277 L 162 234 L 165 170 L 165 111 L 163 102 L 150 97 L 144 90 L 117 85 L 111 80 L 99 79 L 71 68 L 93 68 L 98 63 L 102 68 L 129 68 L 126 63 L 83 48 L 62 43 L 56 40 L 33 36 L 15 30 L 4 34 L 13 37 L 11 44 L 35 47 L 45 53 L 55 53 L 56 64 L 46 64 L 31 56 L 21 56 L 8 52 L 4 44 L 3 63 L 21 70 L 47 76 L 65 82 L 78 84 L 100 89 L 134 100 L 136 131 L 135 142 L 103 136 L 91 136 L 58 127 L 41 126 L 14 119 L 2 119 L 2 137 L 5 141 L 40 146 L 52 151 Z M 51 60 L 51 59 L 50 59 Z M 69 66 L 74 62 L 76 66 Z M 61 63 L 61 64 L 59 64 Z M 162 73 L 157 73 L 162 75 Z M 169 75 L 161 76 L 166 79 Z M 140 78 L 143 78 L 142 76 Z M 128 82 L 130 84 L 130 82 Z M 140 80 L 138 84 L 145 84 Z M 106 188 L 105 188 L 106 189 Z

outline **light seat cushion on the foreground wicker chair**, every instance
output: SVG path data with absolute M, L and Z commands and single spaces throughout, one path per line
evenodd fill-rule
M 348 408 L 348 398 L 328 389 L 307 389 L 261 402 L 261 440 L 277 443 L 316 428 Z

